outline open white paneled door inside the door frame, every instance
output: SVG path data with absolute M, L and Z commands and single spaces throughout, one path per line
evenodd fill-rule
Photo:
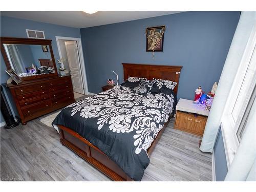
M 65 41 L 74 92 L 84 94 L 79 53 L 76 41 Z

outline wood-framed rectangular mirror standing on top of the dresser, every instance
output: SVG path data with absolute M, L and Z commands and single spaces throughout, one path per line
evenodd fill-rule
M 22 80 L 57 75 L 51 40 L 1 37 L 1 52 Z

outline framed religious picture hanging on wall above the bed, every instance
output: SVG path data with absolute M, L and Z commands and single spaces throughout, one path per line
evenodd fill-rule
M 163 51 L 165 26 L 146 28 L 146 51 Z

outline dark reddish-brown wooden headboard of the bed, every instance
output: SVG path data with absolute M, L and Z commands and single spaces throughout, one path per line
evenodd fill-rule
M 146 77 L 147 79 L 165 79 L 177 82 L 174 93 L 177 95 L 182 66 L 160 66 L 135 63 L 122 63 L 123 80 L 128 77 Z

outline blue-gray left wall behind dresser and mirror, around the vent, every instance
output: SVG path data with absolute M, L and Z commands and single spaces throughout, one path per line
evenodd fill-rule
M 52 48 L 55 60 L 59 59 L 58 48 L 55 36 L 64 37 L 76 37 L 80 38 L 80 30 L 71 27 L 46 24 L 40 22 L 33 22 L 32 20 L 17 19 L 12 17 L 1 16 L 1 36 L 2 37 L 22 37 L 27 38 L 26 29 L 33 29 L 45 32 L 46 39 L 52 39 Z M 5 72 L 6 66 L 1 54 L 1 83 L 5 83 L 9 78 L 8 74 Z M 8 90 L 4 90 L 7 95 L 7 100 L 12 108 L 14 114 L 18 114 L 14 102 L 12 102 L 12 96 Z M 1 122 L 4 122 L 1 113 Z

